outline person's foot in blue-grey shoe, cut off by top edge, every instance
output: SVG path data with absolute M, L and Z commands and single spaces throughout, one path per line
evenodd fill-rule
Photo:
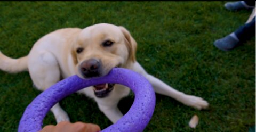
M 230 11 L 253 9 L 255 7 L 255 1 L 228 2 L 225 4 L 225 7 Z

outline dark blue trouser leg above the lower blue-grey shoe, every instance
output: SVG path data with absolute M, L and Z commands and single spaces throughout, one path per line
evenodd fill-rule
M 241 42 L 245 42 L 255 36 L 255 16 L 251 22 L 244 24 L 235 31 L 235 35 Z

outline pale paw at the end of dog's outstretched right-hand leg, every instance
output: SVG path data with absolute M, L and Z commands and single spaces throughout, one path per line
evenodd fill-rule
M 193 95 L 187 95 L 183 103 L 198 110 L 206 109 L 209 106 L 208 102 L 203 98 Z

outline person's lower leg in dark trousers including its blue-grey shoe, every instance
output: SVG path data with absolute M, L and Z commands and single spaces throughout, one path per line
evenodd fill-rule
M 222 51 L 230 51 L 252 36 L 255 36 L 255 17 L 228 36 L 215 40 L 213 44 Z

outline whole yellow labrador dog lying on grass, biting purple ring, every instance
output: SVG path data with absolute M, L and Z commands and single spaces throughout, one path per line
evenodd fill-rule
M 62 78 L 78 75 L 82 78 L 105 76 L 115 67 L 131 69 L 145 76 L 156 93 L 170 96 L 198 110 L 208 103 L 201 97 L 186 95 L 149 75 L 135 59 L 137 43 L 124 27 L 99 23 L 84 29 L 66 28 L 39 39 L 29 54 L 11 59 L 0 52 L 0 69 L 7 72 L 29 71 L 33 83 L 45 90 Z M 117 108 L 119 100 L 130 89 L 122 85 L 101 84 L 79 90 L 93 98 L 99 109 L 115 123 L 123 114 Z M 51 111 L 57 122 L 68 121 L 68 114 L 59 103 Z

